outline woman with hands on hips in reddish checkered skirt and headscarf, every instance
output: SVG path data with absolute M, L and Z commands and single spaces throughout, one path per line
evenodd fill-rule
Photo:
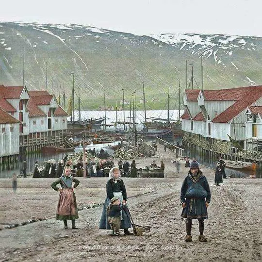
M 72 186 L 72 183 L 75 183 Z M 56 185 L 60 184 L 62 188 Z M 71 176 L 71 167 L 64 168 L 62 176 L 51 184 L 51 188 L 59 191 L 58 205 L 56 210 L 56 219 L 64 221 L 64 229 L 68 229 L 67 220 L 72 220 L 72 229 L 78 229 L 75 226 L 76 218 L 78 218 L 78 209 L 74 188 L 79 185 L 79 180 Z

